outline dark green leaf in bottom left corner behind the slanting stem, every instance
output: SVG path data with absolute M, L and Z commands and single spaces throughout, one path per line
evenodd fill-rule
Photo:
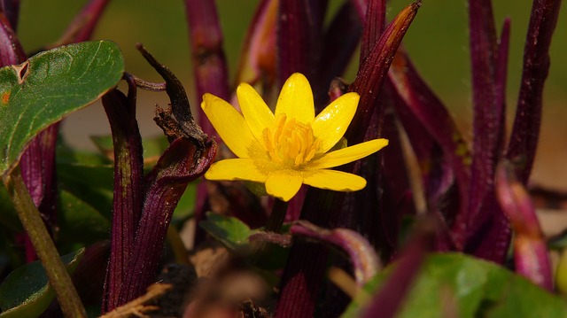
M 67 271 L 72 273 L 82 259 L 85 250 L 80 249 L 61 257 Z M 48 283 L 47 275 L 39 261 L 14 270 L 0 285 L 0 318 L 37 317 L 50 306 L 55 291 Z

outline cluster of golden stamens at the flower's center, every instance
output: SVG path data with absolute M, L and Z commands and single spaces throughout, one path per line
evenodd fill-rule
M 299 167 L 313 159 L 321 144 L 310 124 L 288 120 L 284 113 L 276 115 L 274 127 L 265 128 L 263 134 L 270 159 L 287 167 Z

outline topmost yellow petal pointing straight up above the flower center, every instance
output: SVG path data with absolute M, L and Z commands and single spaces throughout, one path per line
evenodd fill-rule
M 283 84 L 280 96 L 277 98 L 276 115 L 285 113 L 288 120 L 295 118 L 307 124 L 315 119 L 313 91 L 309 81 L 303 74 L 294 73 Z

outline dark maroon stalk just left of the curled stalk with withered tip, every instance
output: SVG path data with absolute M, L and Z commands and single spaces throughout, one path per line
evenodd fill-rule
M 111 254 L 108 262 L 103 313 L 120 303 L 120 290 L 128 276 L 138 222 L 144 200 L 144 153 L 136 121 L 136 85 L 128 81 L 128 97 L 112 90 L 103 97 L 113 133 L 114 198 Z

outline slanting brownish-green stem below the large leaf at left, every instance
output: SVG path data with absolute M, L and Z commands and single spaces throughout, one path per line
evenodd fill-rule
M 79 294 L 74 289 L 71 277 L 67 273 L 57 248 L 53 244 L 47 229 L 45 229 L 42 217 L 27 191 L 19 167 L 13 169 L 10 174 L 4 175 L 3 181 L 12 196 L 19 220 L 26 229 L 37 257 L 45 268 L 51 287 L 57 294 L 63 314 L 66 317 L 87 317 Z

